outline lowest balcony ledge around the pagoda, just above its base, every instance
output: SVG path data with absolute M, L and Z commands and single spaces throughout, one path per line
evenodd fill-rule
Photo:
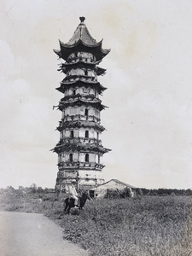
M 77 167 L 77 169 L 81 170 L 84 168 L 93 169 L 93 170 L 102 170 L 105 166 L 96 162 L 79 162 L 79 161 L 61 161 L 57 166 L 63 167 Z

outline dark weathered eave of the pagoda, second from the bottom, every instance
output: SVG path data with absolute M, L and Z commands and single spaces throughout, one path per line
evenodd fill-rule
M 102 125 L 97 124 L 95 121 L 84 120 L 69 120 L 69 121 L 60 121 L 60 125 L 56 128 L 58 131 L 63 131 L 67 128 L 94 128 L 96 131 L 105 131 L 105 128 Z

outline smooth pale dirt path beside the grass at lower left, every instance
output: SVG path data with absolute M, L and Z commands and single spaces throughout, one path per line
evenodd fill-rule
M 62 239 L 61 228 L 43 214 L 0 212 L 1 256 L 88 256 Z

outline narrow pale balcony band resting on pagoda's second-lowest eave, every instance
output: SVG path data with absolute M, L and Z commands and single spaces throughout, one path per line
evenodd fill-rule
M 62 125 L 63 122 L 67 122 L 67 121 L 88 121 L 88 122 L 96 122 L 99 125 L 101 122 L 101 119 L 97 118 L 94 115 L 84 115 L 84 114 L 65 115 L 65 117 L 61 119 L 59 124 Z

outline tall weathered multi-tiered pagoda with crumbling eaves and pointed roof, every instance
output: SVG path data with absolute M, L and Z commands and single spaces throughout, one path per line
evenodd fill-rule
M 110 151 L 100 139 L 105 128 L 101 125 L 100 112 L 107 108 L 99 96 L 107 88 L 97 81 L 106 69 L 98 67 L 110 49 L 102 49 L 102 41 L 90 36 L 80 17 L 80 24 L 67 44 L 60 42 L 55 54 L 61 59 L 58 69 L 65 74 L 59 90 L 63 97 L 58 104 L 61 121 L 56 128 L 60 141 L 53 151 L 58 154 L 55 189 L 65 191 L 68 183 L 76 189 L 91 189 L 104 182 L 102 155 Z

